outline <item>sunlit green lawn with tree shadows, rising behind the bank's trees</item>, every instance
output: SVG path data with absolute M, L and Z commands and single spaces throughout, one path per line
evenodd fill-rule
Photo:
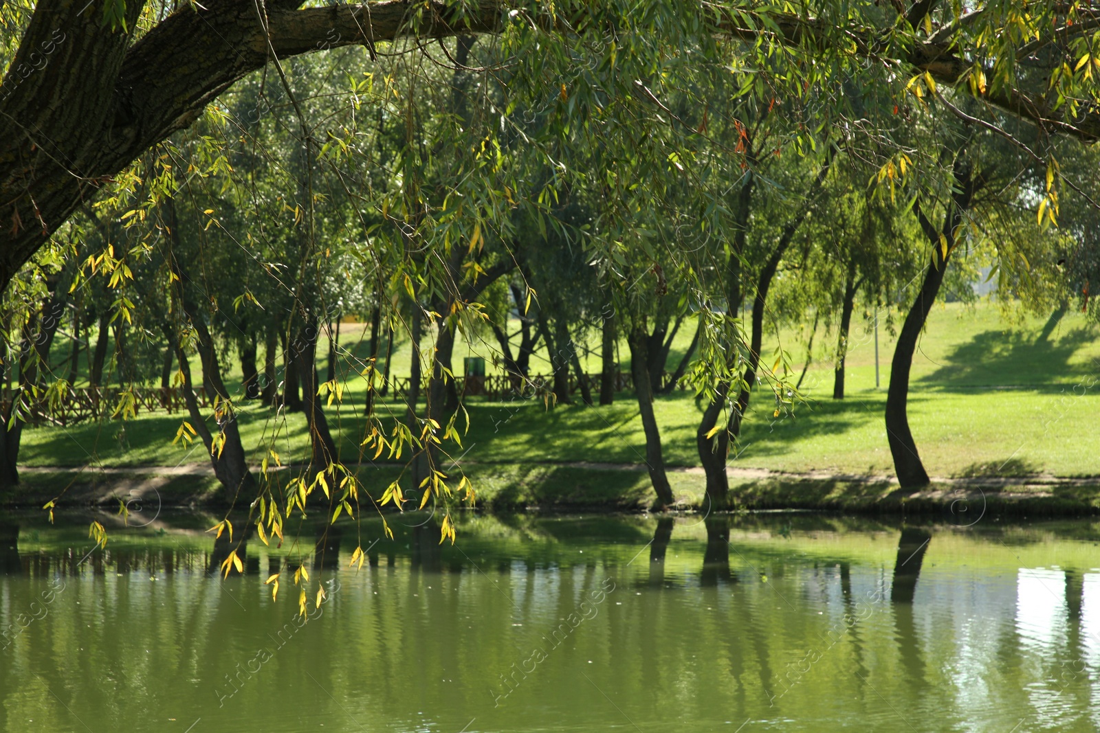
M 1093 382 L 1100 385 L 1098 331 L 1078 313 L 1067 314 L 1053 329 L 1044 330 L 1044 325 L 1050 325 L 1046 319 L 1009 324 L 994 303 L 936 307 L 914 360 L 910 398 L 913 433 L 931 474 L 1100 476 L 1096 449 L 1100 423 L 1092 419 L 1097 408 Z M 818 352 L 803 382 L 807 402 L 798 407 L 793 418 L 772 418 L 770 391 L 755 397 L 732 465 L 784 471 L 890 473 L 882 410 L 893 341 L 883 325 L 879 343 L 882 388 L 876 389 L 873 337 L 865 326 L 858 319 L 853 325 L 848 399 L 832 399 L 832 360 Z M 361 329 L 344 324 L 342 343 L 354 348 Z M 780 336 L 792 353 L 795 370 L 801 370 L 804 348 L 795 347 L 792 333 Z M 676 346 L 682 349 L 690 338 L 691 330 L 685 327 Z M 818 334 L 815 346 L 825 343 Z M 365 344 L 360 343 L 358 351 L 364 352 Z M 622 352 L 625 356 L 626 348 Z M 460 345 L 457 365 L 466 353 L 491 356 L 484 343 Z M 597 356 L 592 355 L 590 368 L 597 368 Z M 408 358 L 406 343 L 395 353 L 395 374 L 408 373 Z M 354 381 L 351 387 L 344 404 L 330 412 L 343 436 L 345 460 L 359 456 L 356 406 L 362 406 L 362 390 Z M 393 401 L 384 407 L 400 414 L 400 406 Z M 605 408 L 560 406 L 548 412 L 536 400 L 471 400 L 468 407 L 471 427 L 462 451 L 463 460 L 471 464 L 638 464 L 645 454 L 638 411 L 626 393 Z M 694 430 L 700 410 L 693 397 L 683 392 L 658 401 L 670 465 L 697 464 Z M 108 466 L 204 462 L 200 445 L 189 452 L 172 445 L 182 419 L 160 413 L 127 423 L 31 429 L 24 433 L 21 463 L 75 467 L 89 462 Z M 272 438 L 284 459 L 304 459 L 308 453 L 301 415 L 284 419 L 250 406 L 241 423 L 245 445 L 255 451 L 257 460 Z

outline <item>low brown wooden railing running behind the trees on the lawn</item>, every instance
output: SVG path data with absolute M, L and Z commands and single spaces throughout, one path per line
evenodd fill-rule
M 668 385 L 672 375 L 666 373 L 661 377 L 661 387 Z M 584 379 L 588 389 L 592 390 L 593 398 L 600 396 L 601 375 L 586 374 Z M 484 377 L 455 377 L 455 387 L 459 395 L 463 397 L 484 397 L 490 400 L 504 400 L 516 397 L 535 397 L 552 391 L 552 375 L 534 375 L 529 377 L 516 377 L 512 375 L 490 375 Z M 383 400 L 403 401 L 408 399 L 411 380 L 409 377 L 394 377 L 389 380 L 389 389 L 386 390 Z M 657 387 L 657 386 L 654 386 Z M 428 388 L 427 379 L 420 387 L 421 398 Z M 689 387 L 681 379 L 675 389 L 688 389 Z M 626 371 L 616 374 L 615 390 L 632 390 L 634 376 Z M 135 387 L 130 390 L 122 390 L 117 387 L 78 387 L 69 389 L 61 400 L 55 400 L 50 406 L 45 397 L 34 401 L 30 409 L 30 420 L 32 424 L 54 424 L 72 425 L 85 420 L 97 420 L 109 418 L 120 411 L 122 395 L 129 391 L 133 396 L 133 411 L 135 414 L 145 412 L 183 412 L 187 409 L 184 402 L 184 393 L 178 387 Z M 570 395 L 581 392 L 581 382 L 576 375 L 569 375 Z M 209 408 L 211 399 L 202 386 L 195 390 L 195 397 L 199 407 Z M 0 408 L 3 414 L 8 414 L 8 406 L 11 395 L 4 390 L 0 399 Z

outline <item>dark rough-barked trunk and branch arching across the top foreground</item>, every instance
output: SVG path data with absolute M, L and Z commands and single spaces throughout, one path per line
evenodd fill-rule
M 263 67 L 272 54 L 285 58 L 348 45 L 365 45 L 373 53 L 374 44 L 403 35 L 495 33 L 508 14 L 507 5 L 492 0 L 465 12 L 450 3 L 414 0 L 302 10 L 297 4 L 180 3 L 133 42 L 144 8 L 140 0 L 125 3 L 128 33 L 102 27 L 97 20 L 101 2 L 38 0 L 0 87 L 0 221 L 13 224 L 0 229 L 0 289 L 108 177 L 189 126 L 210 101 Z M 755 27 L 747 26 L 741 13 L 708 12 L 706 18 L 715 34 L 751 43 L 767 37 L 767 43 L 807 51 L 834 30 L 825 20 L 783 13 L 769 13 L 768 22 Z M 548 18 L 538 22 L 563 32 Z M 583 18 L 572 22 L 583 23 Z M 1069 43 L 1091 27 L 1059 29 L 1058 38 Z M 881 32 L 847 30 L 846 37 L 854 53 L 881 63 Z M 972 54 L 952 35 L 941 29 L 897 44 L 905 51 L 891 60 L 948 86 L 966 84 Z M 990 85 L 979 97 L 1047 130 L 1087 142 L 1100 137 L 1100 114 L 1058 109 L 1053 95 L 1042 85 L 1034 92 Z

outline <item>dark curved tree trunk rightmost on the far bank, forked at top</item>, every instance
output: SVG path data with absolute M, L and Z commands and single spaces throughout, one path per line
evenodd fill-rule
M 886 412 L 887 441 L 890 443 L 898 482 L 903 489 L 915 489 L 928 484 L 928 473 L 924 469 L 924 463 L 916 451 L 916 442 L 909 427 L 909 375 L 921 331 L 924 330 L 928 312 L 936 302 L 939 286 L 944 281 L 944 273 L 956 245 L 955 237 L 963 223 L 963 214 L 974 198 L 975 182 L 964 155 L 959 153 L 955 158 L 955 190 L 944 214 L 943 227 L 937 231 L 920 207 L 916 207 L 921 229 L 932 245 L 932 264 L 924 273 L 921 289 L 898 334 L 898 344 L 890 364 L 890 388 L 887 392 Z

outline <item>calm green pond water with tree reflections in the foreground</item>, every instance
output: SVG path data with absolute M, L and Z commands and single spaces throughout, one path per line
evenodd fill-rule
M 106 522 L 106 519 L 100 518 Z M 820 515 L 0 522 L 2 731 L 1093 731 L 1100 531 Z M 422 518 L 421 518 L 422 520 Z M 66 523 L 66 522 L 70 523 Z M 289 527 L 288 527 L 289 529 Z M 13 541 L 18 543 L 13 547 Z M 726 537 L 728 536 L 728 542 Z M 240 536 L 238 536 L 238 540 Z M 349 569 L 356 544 L 371 563 Z M 899 545 L 901 548 L 899 549 Z M 310 571 L 309 620 L 280 563 Z M 376 565 L 374 565 L 376 563 Z M 318 582 L 328 599 L 317 609 Z

